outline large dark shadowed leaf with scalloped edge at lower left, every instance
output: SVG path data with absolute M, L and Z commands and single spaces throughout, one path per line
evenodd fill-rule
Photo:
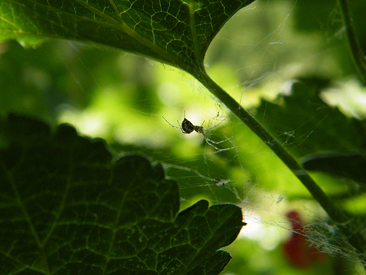
M 9 115 L 0 121 L 0 274 L 221 272 L 241 208 L 199 201 L 139 155 L 112 161 L 100 139 Z

